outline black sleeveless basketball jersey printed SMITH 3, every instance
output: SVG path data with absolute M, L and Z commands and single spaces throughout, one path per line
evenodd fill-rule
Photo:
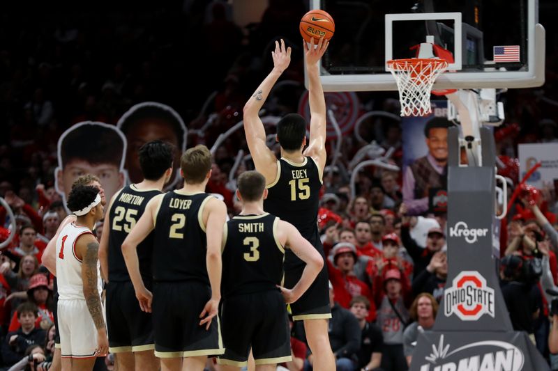
M 279 218 L 268 213 L 235 216 L 223 237 L 223 298 L 276 290 L 283 274 L 285 249 L 276 237 Z

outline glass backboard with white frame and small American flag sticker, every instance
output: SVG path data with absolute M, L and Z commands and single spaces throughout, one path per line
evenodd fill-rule
M 433 35 L 455 62 L 434 88 L 527 88 L 544 82 L 537 0 L 310 0 L 335 20 L 322 58 L 326 91 L 397 90 L 391 58 Z

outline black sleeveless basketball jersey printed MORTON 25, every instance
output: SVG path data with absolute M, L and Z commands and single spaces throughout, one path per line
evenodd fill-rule
M 130 281 L 121 246 L 135 223 L 140 220 L 149 200 L 158 194 L 161 194 L 158 189 L 140 190 L 135 187 L 135 184 L 124 187 L 116 194 L 109 210 L 110 226 L 105 226 L 105 231 L 109 233 L 109 281 Z M 151 281 L 152 251 L 153 232 L 137 245 L 140 273 L 144 280 L 149 281 Z

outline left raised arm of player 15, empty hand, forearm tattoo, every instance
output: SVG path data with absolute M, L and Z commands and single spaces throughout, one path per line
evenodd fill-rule
M 259 119 L 258 113 L 262 109 L 271 88 L 277 82 L 282 72 L 289 67 L 291 62 L 291 48 L 285 49 L 285 42 L 281 40 L 275 42 L 275 50 L 271 52 L 273 57 L 273 70 L 269 72 L 267 77 L 259 84 L 256 91 L 248 102 L 244 105 L 244 132 L 246 134 L 246 143 L 250 155 L 254 160 L 256 170 L 264 175 L 266 184 L 273 182 L 277 175 L 277 159 L 273 152 L 266 145 L 266 131 L 262 120 Z

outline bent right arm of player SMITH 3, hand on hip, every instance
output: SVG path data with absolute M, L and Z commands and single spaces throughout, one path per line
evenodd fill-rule
M 291 290 L 280 287 L 283 297 L 285 297 L 285 301 L 288 304 L 298 300 L 308 290 L 308 287 L 312 285 L 319 271 L 324 267 L 324 258 L 322 258 L 322 255 L 319 255 L 318 251 L 306 238 L 302 237 L 299 230 L 291 223 L 286 221 L 279 221 L 279 223 L 280 230 L 284 231 L 286 235 L 285 246 L 290 248 L 299 259 L 306 263 L 299 282 Z

